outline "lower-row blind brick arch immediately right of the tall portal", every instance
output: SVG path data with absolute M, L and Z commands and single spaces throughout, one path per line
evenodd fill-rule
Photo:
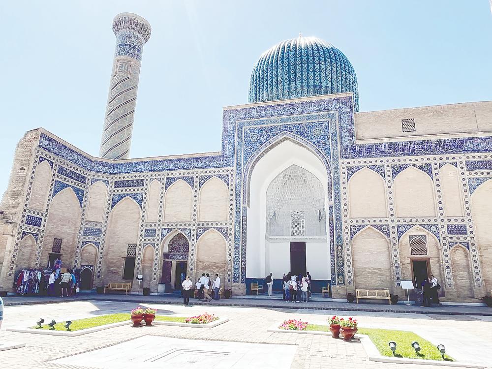
M 394 278 L 386 236 L 368 226 L 354 236 L 351 244 L 355 288 L 392 290 Z

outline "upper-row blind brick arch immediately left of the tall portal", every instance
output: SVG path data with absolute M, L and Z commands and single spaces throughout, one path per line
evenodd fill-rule
M 212 177 L 198 193 L 198 221 L 227 220 L 229 214 L 229 188 L 221 179 Z

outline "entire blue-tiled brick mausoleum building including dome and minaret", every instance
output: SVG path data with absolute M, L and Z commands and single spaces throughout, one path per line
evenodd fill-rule
M 359 112 L 348 59 L 311 37 L 253 68 L 250 103 L 223 110 L 220 152 L 127 158 L 150 26 L 115 18 L 101 156 L 42 129 L 14 155 L 0 204 L 0 290 L 54 257 L 84 288 L 152 293 L 218 273 L 233 294 L 309 271 L 334 297 L 404 295 L 436 276 L 445 301 L 492 288 L 492 102 Z

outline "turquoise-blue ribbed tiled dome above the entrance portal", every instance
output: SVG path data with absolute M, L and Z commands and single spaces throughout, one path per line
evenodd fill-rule
M 249 83 L 249 102 L 353 92 L 359 111 L 357 77 L 347 57 L 316 37 L 293 38 L 265 51 Z

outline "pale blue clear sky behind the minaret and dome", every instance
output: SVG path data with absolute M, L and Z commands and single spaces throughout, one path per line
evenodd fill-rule
M 0 195 L 27 130 L 99 153 L 121 12 L 152 26 L 131 157 L 219 151 L 222 107 L 299 31 L 352 62 L 361 111 L 492 100 L 488 0 L 1 1 Z

